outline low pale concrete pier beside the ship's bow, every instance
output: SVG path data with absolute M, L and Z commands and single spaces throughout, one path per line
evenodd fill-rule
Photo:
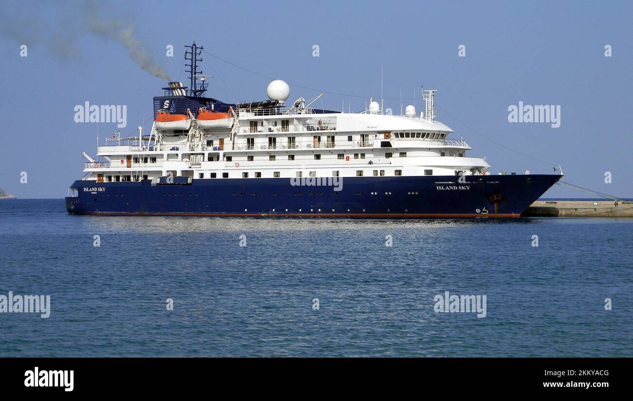
M 522 217 L 633 217 L 633 204 L 618 201 L 536 201 Z

